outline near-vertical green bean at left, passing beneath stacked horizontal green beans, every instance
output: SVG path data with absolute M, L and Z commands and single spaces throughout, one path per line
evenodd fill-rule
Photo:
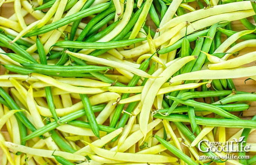
M 41 64 L 47 65 L 47 59 L 46 59 L 46 54 L 45 54 L 45 51 L 44 51 L 44 46 L 43 46 L 43 43 L 41 42 L 41 40 L 39 39 L 38 36 L 37 36 L 37 39 L 36 39 L 36 45 L 37 45 L 37 50 L 38 50 L 38 54 L 39 54 Z M 50 86 L 49 87 L 44 87 L 44 89 L 45 89 L 45 93 L 46 93 L 46 100 L 47 100 L 49 110 L 50 110 L 54 120 L 58 121 L 59 118 L 58 118 L 56 110 L 55 110 L 55 105 L 54 105 L 53 96 L 52 96 L 52 87 L 50 87 Z

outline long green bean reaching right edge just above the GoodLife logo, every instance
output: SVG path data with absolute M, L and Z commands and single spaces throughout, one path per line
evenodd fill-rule
M 190 122 L 189 117 L 183 114 L 170 114 L 168 116 L 155 114 L 155 118 L 165 119 L 176 122 Z M 255 128 L 256 121 L 230 119 L 230 118 L 211 118 L 196 116 L 197 124 L 204 126 L 229 127 L 229 128 Z M 234 124 L 236 123 L 236 124 Z

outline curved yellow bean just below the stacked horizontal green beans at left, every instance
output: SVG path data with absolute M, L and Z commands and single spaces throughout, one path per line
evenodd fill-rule
M 86 94 L 96 94 L 106 92 L 107 90 L 99 89 L 99 88 L 87 88 L 87 87 L 76 87 L 66 83 L 61 83 L 54 78 L 42 74 L 32 73 L 30 74 L 32 77 L 38 78 L 41 81 L 51 84 L 52 86 L 58 87 L 59 89 L 63 89 L 73 93 L 86 93 Z

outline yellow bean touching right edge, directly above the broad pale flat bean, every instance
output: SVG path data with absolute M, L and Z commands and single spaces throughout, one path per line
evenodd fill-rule
M 244 64 L 248 64 L 250 62 L 255 61 L 256 59 L 256 51 L 248 52 L 244 55 L 232 58 L 230 60 L 226 60 L 223 62 L 208 64 L 207 68 L 209 69 L 228 69 L 228 68 L 236 68 L 242 66 Z

